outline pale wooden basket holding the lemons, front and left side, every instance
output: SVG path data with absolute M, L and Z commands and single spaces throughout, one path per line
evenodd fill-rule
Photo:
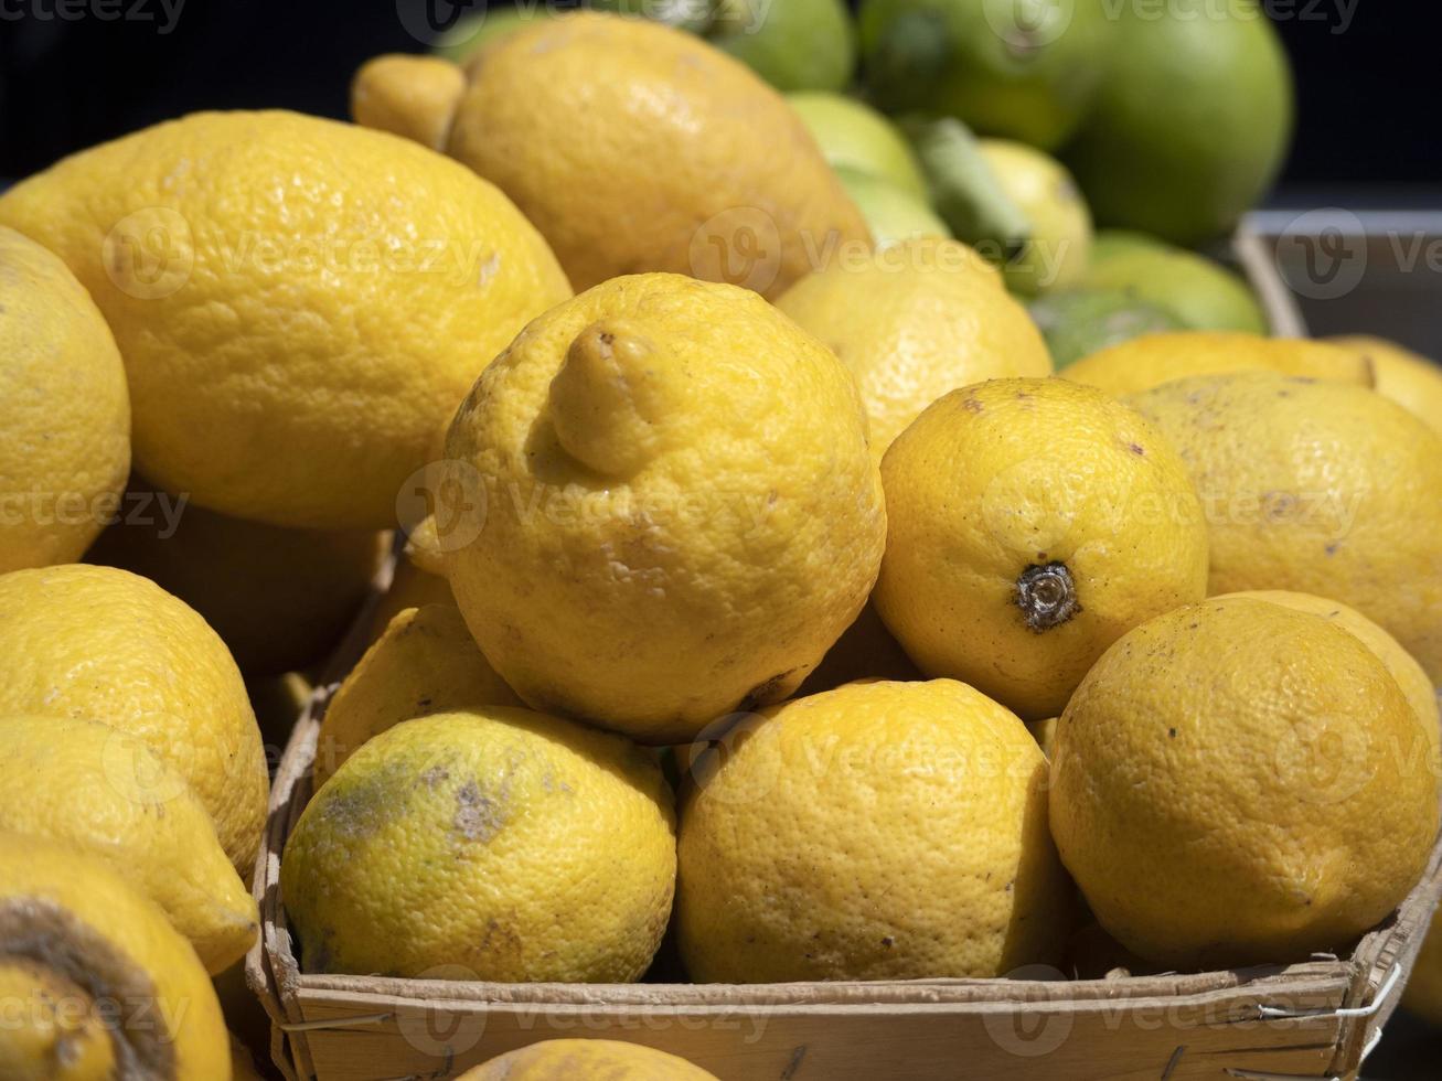
M 303 973 L 281 850 L 310 798 L 326 702 L 365 650 L 389 577 L 296 725 L 257 860 L 261 941 L 245 971 L 290 1081 L 448 1078 L 562 1036 L 647 1044 L 722 1081 L 1348 1078 L 1380 1039 L 1442 894 L 1439 840 L 1417 886 L 1350 957 L 1185 976 L 516 984 Z

